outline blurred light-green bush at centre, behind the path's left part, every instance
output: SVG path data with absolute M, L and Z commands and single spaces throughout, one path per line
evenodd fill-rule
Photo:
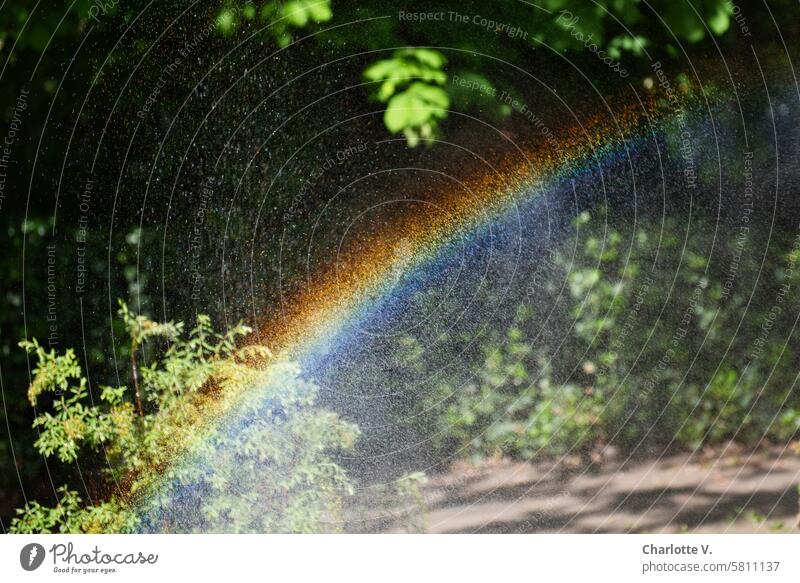
M 530 459 L 580 449 L 596 437 L 586 429 L 597 422 L 603 395 L 554 381 L 545 354 L 534 352 L 524 330 L 532 316 L 521 307 L 504 335 L 489 332 L 483 364 L 464 384 L 439 385 L 433 399 L 445 403 L 437 423 L 441 445 L 470 457 Z

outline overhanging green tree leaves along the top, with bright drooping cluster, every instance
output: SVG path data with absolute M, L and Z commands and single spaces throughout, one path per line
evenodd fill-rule
M 529 58 L 531 48 L 556 60 L 555 55 L 567 53 L 572 60 L 610 58 L 632 66 L 644 63 L 648 55 L 652 59 L 677 58 L 682 44 L 728 33 L 734 9 L 728 0 L 694 0 L 691 5 L 671 0 L 655 0 L 651 5 L 640 0 L 544 0 L 538 8 L 512 1 L 503 3 L 501 9 L 470 0 L 458 6 L 435 1 L 401 7 L 400 13 L 409 15 L 441 14 L 433 26 L 416 23 L 419 25 L 412 27 L 400 17 L 395 3 L 357 4 L 329 0 L 232 3 L 221 10 L 218 27 L 231 34 L 237 26 L 260 20 L 269 25 L 267 34 L 279 46 L 287 46 L 292 30 L 331 21 L 333 26 L 319 35 L 319 42 L 360 45 L 367 50 L 405 47 L 390 58 L 369 64 L 364 77 L 381 82 L 373 96 L 386 104 L 386 128 L 393 134 L 403 133 L 411 146 L 420 141 L 430 143 L 451 105 L 466 111 L 475 101 L 462 87 L 448 83 L 452 75 L 441 51 L 424 47 L 453 47 L 448 58 L 459 77 L 479 78 L 479 86 L 485 88 L 502 84 L 513 94 L 515 83 L 498 72 L 495 58 L 517 63 Z M 454 21 L 454 14 L 461 20 Z M 369 19 L 377 19 L 369 24 L 375 30 L 363 38 L 336 30 L 337 24 Z M 472 51 L 491 58 L 475 59 Z M 496 99 L 485 105 L 490 115 L 508 109 L 508 104 Z

